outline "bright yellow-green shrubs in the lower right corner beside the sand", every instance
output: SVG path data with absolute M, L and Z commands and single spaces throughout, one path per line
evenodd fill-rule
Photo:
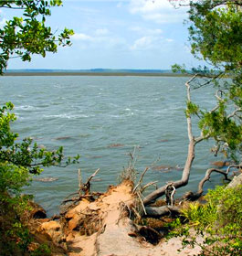
M 182 210 L 186 223 L 178 219 L 171 225 L 170 236 L 184 236 L 184 246 L 199 245 L 201 255 L 241 255 L 242 253 L 242 186 L 235 188 L 216 187 L 205 196 L 206 204 L 189 204 Z M 189 235 L 195 229 L 205 239 L 199 244 Z M 209 246 L 209 247 L 208 247 Z

